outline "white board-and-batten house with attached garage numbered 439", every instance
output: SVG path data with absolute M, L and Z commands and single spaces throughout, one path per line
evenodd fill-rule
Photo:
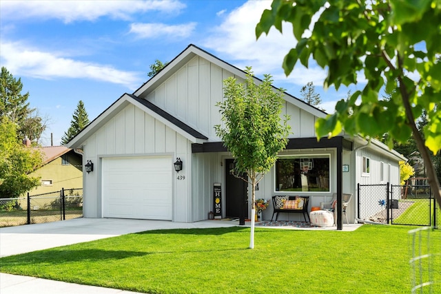
M 214 132 L 220 123 L 216 103 L 223 100 L 223 80 L 229 76 L 245 81 L 242 70 L 189 45 L 75 136 L 68 147 L 83 148 L 83 166 L 88 160 L 94 164 L 92 172 L 83 173 L 84 216 L 206 220 L 214 211 L 215 184 L 220 187 L 223 218 L 249 216 L 250 207 L 243 205 L 247 186 L 229 174 L 234 160 Z M 314 123 L 326 114 L 289 94 L 283 112 L 291 116 L 294 134 L 259 183 L 256 198 L 310 196 L 311 209 L 333 193 L 355 196 L 357 183 L 399 184 L 398 161 L 405 158 L 396 151 L 377 140 L 368 144 L 345 134 L 318 142 Z M 178 172 L 177 158 L 183 162 Z M 356 216 L 357 200 L 352 199 L 349 222 Z M 271 213 L 269 207 L 264 218 Z M 280 219 L 301 217 L 292 214 Z M 341 212 L 338 215 L 341 221 Z

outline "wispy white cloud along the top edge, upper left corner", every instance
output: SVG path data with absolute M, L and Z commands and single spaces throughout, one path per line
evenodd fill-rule
M 114 19 L 130 19 L 136 12 L 151 10 L 179 13 L 185 4 L 170 1 L 2 1 L 3 19 L 61 19 L 72 21 L 94 21 L 109 16 Z

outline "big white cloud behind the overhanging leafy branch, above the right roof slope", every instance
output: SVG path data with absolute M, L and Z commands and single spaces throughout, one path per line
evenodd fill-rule
M 233 61 L 240 69 L 252 66 L 257 76 L 271 74 L 274 85 L 296 89 L 312 81 L 316 87 L 321 88 L 327 72 L 312 59 L 309 61 L 309 68 L 298 61 L 288 77 L 283 72 L 283 59 L 297 44 L 291 23 L 283 23 L 283 34 L 273 27 L 268 35 L 262 34 L 256 41 L 256 25 L 263 10 L 270 7 L 271 1 L 247 1 L 229 14 L 225 13 L 225 20 L 203 40 L 203 46 L 214 50 L 221 59 Z M 321 13 L 322 10 L 314 14 L 312 23 Z M 312 28 L 311 24 L 310 29 Z M 305 36 L 307 34 L 310 32 L 305 32 Z M 297 95 L 294 92 L 292 94 Z

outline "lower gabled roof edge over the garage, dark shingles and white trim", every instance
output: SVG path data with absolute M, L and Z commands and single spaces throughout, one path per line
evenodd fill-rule
M 192 143 L 202 143 L 205 140 L 208 140 L 206 136 L 197 132 L 192 127 L 189 127 L 181 120 L 178 120 L 171 114 L 165 112 L 163 109 L 153 105 L 149 101 L 145 99 L 138 98 L 134 96 L 134 94 L 123 94 L 117 101 L 115 101 L 110 107 L 107 107 L 103 113 L 101 113 L 98 117 L 92 120 L 91 123 L 87 127 L 85 127 L 79 134 L 76 134 L 74 138 L 72 138 L 67 147 L 70 148 L 78 148 L 84 143 L 87 138 L 89 138 L 94 132 L 96 132 L 99 128 L 103 127 L 105 123 L 107 123 L 115 114 L 121 112 L 127 105 L 135 105 L 139 107 L 147 114 L 150 114 L 157 120 L 161 121 L 167 127 L 170 127 L 174 131 L 178 132 L 188 140 L 192 141 Z M 182 132 L 184 131 L 184 132 Z

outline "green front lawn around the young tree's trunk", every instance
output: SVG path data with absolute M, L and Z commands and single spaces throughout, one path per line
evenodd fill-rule
M 146 231 L 1 258 L 0 271 L 145 293 L 409 293 L 409 229 L 259 228 L 255 249 L 244 227 Z M 431 240 L 440 253 L 441 231 Z

